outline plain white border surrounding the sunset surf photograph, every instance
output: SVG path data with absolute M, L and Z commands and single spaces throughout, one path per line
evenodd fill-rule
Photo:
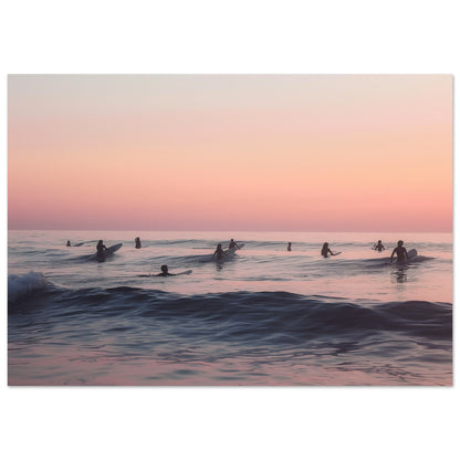
M 458 76 L 456 6 L 7 0 L 0 7 L 3 164 L 8 73 Z M 2 170 L 3 217 L 6 176 Z M 6 223 L 1 231 L 6 241 Z M 457 387 L 8 388 L 6 244 L 1 248 L 0 417 L 8 459 L 454 458 Z M 457 353 L 454 364 L 458 368 Z

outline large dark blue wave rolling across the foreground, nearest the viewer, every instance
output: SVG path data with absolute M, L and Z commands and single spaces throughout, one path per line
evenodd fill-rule
M 14 281 L 14 280 L 13 280 Z M 12 282 L 13 282 L 12 281 Z M 29 273 L 14 281 L 18 293 L 35 290 L 33 307 L 40 302 L 40 288 L 46 283 L 41 273 Z M 38 292 L 36 292 L 38 290 Z M 60 321 L 79 316 L 82 322 L 95 317 L 123 317 L 163 327 L 192 331 L 223 341 L 272 341 L 303 343 L 324 336 L 346 335 L 363 338 L 379 333 L 401 333 L 424 338 L 452 338 L 452 305 L 424 301 L 356 304 L 339 297 L 301 295 L 290 292 L 224 292 L 179 295 L 159 290 L 129 286 L 69 290 L 51 286 L 46 299 L 46 318 Z M 22 302 L 10 314 L 33 312 Z M 90 320 L 91 318 L 91 320 Z

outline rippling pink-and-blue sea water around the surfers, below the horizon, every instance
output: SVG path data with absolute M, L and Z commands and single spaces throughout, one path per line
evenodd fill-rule
M 451 233 L 10 231 L 8 254 L 10 385 L 452 385 Z

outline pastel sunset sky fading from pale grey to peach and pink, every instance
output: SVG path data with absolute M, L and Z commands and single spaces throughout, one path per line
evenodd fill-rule
M 10 229 L 452 230 L 450 75 L 10 75 Z

